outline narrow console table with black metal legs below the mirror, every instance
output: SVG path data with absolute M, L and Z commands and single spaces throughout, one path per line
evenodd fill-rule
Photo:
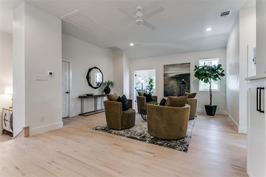
M 105 94 L 102 94 L 102 95 L 92 95 L 92 96 L 79 96 L 79 98 L 81 99 L 81 114 L 79 114 L 80 116 L 89 116 L 91 114 L 96 114 L 96 113 L 100 113 L 100 112 L 104 112 L 104 108 L 103 108 L 103 99 L 106 95 Z M 101 109 L 97 110 L 97 98 L 98 97 L 101 97 Z M 84 101 L 84 98 L 94 98 L 94 111 L 91 111 L 91 112 L 85 112 L 84 113 L 84 104 L 83 104 L 83 101 Z M 85 115 L 84 115 L 85 114 Z

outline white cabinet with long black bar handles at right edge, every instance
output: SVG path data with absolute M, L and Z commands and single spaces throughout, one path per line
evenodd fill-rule
M 265 90 L 265 78 L 248 83 L 247 173 L 253 177 L 266 176 Z

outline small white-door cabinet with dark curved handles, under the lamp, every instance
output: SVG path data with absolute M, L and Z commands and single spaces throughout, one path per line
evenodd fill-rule
M 13 133 L 13 109 L 3 108 L 3 129 Z

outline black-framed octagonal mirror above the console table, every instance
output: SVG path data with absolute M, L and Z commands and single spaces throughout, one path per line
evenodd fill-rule
M 98 89 L 102 85 L 103 74 L 97 67 L 89 68 L 86 78 L 89 86 L 94 89 Z

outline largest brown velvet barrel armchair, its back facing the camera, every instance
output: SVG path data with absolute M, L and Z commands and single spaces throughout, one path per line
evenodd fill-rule
M 174 140 L 187 134 L 190 106 L 157 106 L 147 104 L 148 133 L 162 139 Z

